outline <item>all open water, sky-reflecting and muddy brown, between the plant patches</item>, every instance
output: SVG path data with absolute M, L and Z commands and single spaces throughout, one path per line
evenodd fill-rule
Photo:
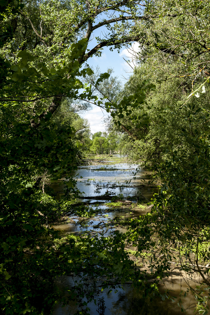
M 116 163 L 109 165 L 91 165 L 91 166 L 79 166 L 77 174 L 77 187 L 83 192 L 83 197 L 96 197 L 102 196 L 107 191 L 115 195 L 123 194 L 125 198 L 135 197 L 139 195 L 138 200 L 142 198 L 142 201 L 148 202 L 153 198 L 154 193 L 158 193 L 158 188 L 151 189 L 145 188 L 142 189 L 140 186 L 142 183 L 147 183 L 150 176 L 145 171 L 138 171 L 136 178 L 133 179 L 134 173 L 136 172 L 137 165 L 127 164 L 127 163 Z M 80 176 L 82 178 L 80 178 Z M 130 181 L 126 183 L 126 181 Z M 60 183 L 55 183 L 53 188 L 56 192 L 58 192 L 58 198 L 60 198 L 63 194 L 62 189 L 65 186 L 63 181 Z M 146 199 L 143 199 L 145 197 Z M 72 232 L 93 232 L 98 236 L 110 235 L 116 228 L 114 227 L 106 227 L 105 223 L 113 220 L 116 217 L 125 216 L 125 217 L 138 217 L 140 215 L 145 215 L 146 210 L 139 209 L 135 211 L 135 213 L 130 213 L 130 211 L 125 209 L 109 209 L 105 206 L 101 199 L 80 199 L 80 201 L 88 201 L 93 203 L 92 208 L 99 208 L 102 210 L 101 213 L 97 214 L 94 218 L 85 220 L 85 224 L 79 224 L 79 218 L 72 214 L 69 215 L 69 218 L 73 220 L 72 223 L 55 225 L 53 228 L 62 231 L 65 233 Z M 96 202 L 100 204 L 98 206 L 95 205 Z M 104 200 L 107 203 L 107 200 Z M 136 202 L 136 201 L 135 201 Z M 132 211 L 132 210 L 131 210 Z M 102 222 L 102 223 L 100 223 Z M 101 227 L 101 226 L 102 227 Z M 96 228 L 96 226 L 98 226 Z M 120 232 L 126 232 L 125 228 L 118 228 Z M 108 294 L 108 289 L 103 290 L 97 296 L 97 302 L 99 299 L 103 299 L 104 305 L 106 308 L 104 312 L 99 313 L 97 311 L 97 305 L 93 302 L 88 304 L 90 308 L 91 315 L 103 314 L 103 315 L 181 315 L 180 307 L 178 306 L 178 298 L 181 290 L 185 291 L 189 288 L 189 284 L 192 285 L 194 282 L 185 282 L 183 281 L 182 276 L 178 273 L 177 276 L 173 276 L 173 279 L 167 279 L 165 284 L 159 285 L 159 290 L 161 293 L 164 293 L 165 289 L 172 290 L 171 295 L 177 297 L 175 301 L 165 300 L 163 301 L 161 298 L 155 298 L 153 301 L 149 299 L 143 299 L 140 292 L 136 289 L 133 289 L 131 285 L 126 284 L 124 289 L 118 289 L 118 292 L 111 292 Z M 60 289 L 63 290 L 63 294 L 65 295 L 66 287 L 73 285 L 73 279 L 71 277 L 65 277 L 58 280 L 58 285 Z M 102 301 L 102 300 L 101 300 Z M 190 293 L 182 299 L 182 305 L 186 310 L 188 315 L 194 313 L 194 308 L 192 307 L 194 304 L 194 299 Z M 78 311 L 78 307 L 74 302 L 70 302 L 68 306 L 62 307 L 61 304 L 58 304 L 55 307 L 53 315 L 73 315 Z

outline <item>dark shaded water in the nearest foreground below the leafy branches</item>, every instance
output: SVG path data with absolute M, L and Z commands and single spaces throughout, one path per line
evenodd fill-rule
M 180 280 L 173 281 L 173 296 L 178 297 L 180 293 Z M 59 281 L 60 289 L 73 286 L 73 280 L 70 277 L 66 277 Z M 169 289 L 172 286 L 172 283 L 166 284 Z M 165 286 L 159 285 L 160 292 L 164 292 Z M 184 289 L 184 288 L 182 288 Z M 177 301 L 174 302 L 171 300 L 161 300 L 161 298 L 153 298 L 150 301 L 149 298 L 143 298 L 142 294 L 136 289 L 133 289 L 131 285 L 126 284 L 124 289 L 118 288 L 117 292 L 112 291 L 108 294 L 108 289 L 104 289 L 103 292 L 100 292 L 96 298 L 96 305 L 94 301 L 88 303 L 90 308 L 90 315 L 181 315 L 180 307 L 177 305 Z M 192 296 L 187 295 L 183 300 L 183 306 L 189 307 Z M 103 301 L 105 309 L 103 312 L 98 310 L 98 302 Z M 84 300 L 85 301 L 85 300 Z M 61 304 L 55 307 L 53 315 L 73 315 L 81 309 L 78 308 L 75 302 L 70 301 L 67 306 L 62 306 Z M 188 310 L 187 314 L 193 314 L 193 310 Z

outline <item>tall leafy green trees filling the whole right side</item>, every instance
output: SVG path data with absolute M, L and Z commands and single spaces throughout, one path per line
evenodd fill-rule
M 120 123 L 115 122 L 125 133 L 124 150 L 132 161 L 143 161 L 141 165 L 153 170 L 162 182 L 152 212 L 133 222 L 130 241 L 138 244 L 140 251 L 144 240 L 148 255 L 152 252 L 151 270 L 160 278 L 173 270 L 174 264 L 189 278 L 198 272 L 200 285 L 188 285 L 196 300 L 196 311 L 207 314 L 209 4 L 161 4 L 149 5 L 149 10 L 160 16 L 148 25 L 151 44 L 142 44 L 141 64 L 125 85 L 124 95 L 135 94 L 138 84 L 149 78 L 156 82 L 156 91 L 147 94 L 147 104 L 132 110 L 136 116 L 132 123 L 125 113 Z M 140 117 L 146 118 L 144 126 Z

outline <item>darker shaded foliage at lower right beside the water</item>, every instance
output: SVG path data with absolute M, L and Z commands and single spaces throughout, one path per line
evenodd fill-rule
M 189 277 L 196 268 L 204 283 L 209 285 L 209 269 L 200 268 L 198 265 L 205 266 L 210 260 L 209 251 L 206 250 L 210 238 L 210 113 L 209 110 L 196 105 L 179 105 L 180 120 L 174 124 L 173 129 L 170 122 L 174 119 L 175 111 L 169 109 L 164 114 L 167 120 L 164 129 L 160 127 L 159 137 L 162 142 L 164 137 L 167 140 L 173 137 L 168 144 L 170 149 L 166 147 L 159 159 L 154 159 L 152 163 L 146 160 L 146 163 L 150 163 L 150 168 L 156 170 L 155 177 L 162 183 L 160 194 L 156 194 L 152 201 L 154 206 L 151 213 L 139 218 L 138 223 L 133 221 L 133 230 L 131 229 L 128 235 L 131 237 L 130 241 L 137 245 L 138 251 L 144 249 L 146 253 L 152 253 L 149 267 L 154 276 L 164 278 L 164 273 L 172 269 L 171 261 L 176 261 Z M 180 121 L 182 126 L 179 125 L 178 128 L 176 126 Z M 172 134 L 169 136 L 170 131 Z M 176 135 L 179 136 L 179 141 L 182 141 L 179 149 Z M 142 137 L 142 140 L 145 138 Z M 154 238 L 157 241 L 154 242 Z M 143 243 L 142 239 L 147 241 Z M 193 286 L 190 286 L 190 289 L 195 297 L 199 296 L 201 299 L 202 285 L 196 290 Z M 200 309 L 200 302 L 197 309 Z M 202 312 L 206 312 L 205 307 Z

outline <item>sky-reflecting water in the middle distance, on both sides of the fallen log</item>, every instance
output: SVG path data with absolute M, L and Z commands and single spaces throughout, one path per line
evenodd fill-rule
M 90 165 L 90 166 L 79 166 L 76 175 L 77 179 L 77 188 L 81 192 L 81 199 L 78 201 L 89 202 L 92 209 L 102 209 L 106 210 L 106 216 L 104 214 L 96 215 L 93 220 L 89 220 L 88 225 L 82 227 L 78 224 L 78 217 L 75 215 L 70 215 L 69 217 L 73 220 L 73 223 L 55 225 L 52 226 L 56 230 L 63 230 L 64 233 L 70 232 L 85 232 L 91 231 L 93 226 L 98 225 L 100 222 L 104 224 L 110 220 L 113 220 L 116 217 L 124 215 L 125 217 L 136 217 L 139 215 L 144 215 L 148 210 L 139 209 L 135 211 L 135 214 L 128 213 L 128 209 L 111 209 L 108 210 L 108 207 L 104 203 L 108 202 L 103 200 L 101 196 L 108 194 L 113 194 L 117 196 L 123 194 L 124 198 L 137 196 L 137 199 L 142 199 L 144 202 L 149 202 L 154 195 L 154 192 L 158 192 L 158 188 L 142 188 L 142 184 L 148 183 L 150 175 L 148 172 L 141 171 L 136 173 L 137 165 L 127 164 L 127 163 L 118 163 L 111 165 Z M 82 178 L 80 178 L 82 177 Z M 63 179 L 64 180 L 64 179 Z M 62 181 L 55 183 L 53 188 L 56 191 L 61 191 L 65 186 L 65 183 Z M 141 187 L 141 188 L 140 188 Z M 59 196 L 61 193 L 59 193 Z M 97 196 L 99 199 L 97 199 Z M 94 197 L 95 199 L 86 199 L 85 197 Z M 145 199 L 146 198 L 146 199 Z M 96 203 L 101 203 L 100 205 L 95 205 Z M 92 204 L 92 205 L 91 205 Z M 88 221 L 88 220 L 86 220 Z M 116 229 L 115 229 L 116 230 Z M 125 232 L 125 228 L 118 228 L 120 232 Z M 104 236 L 108 236 L 113 232 L 113 228 L 99 227 L 94 228 L 94 232 L 104 233 Z

